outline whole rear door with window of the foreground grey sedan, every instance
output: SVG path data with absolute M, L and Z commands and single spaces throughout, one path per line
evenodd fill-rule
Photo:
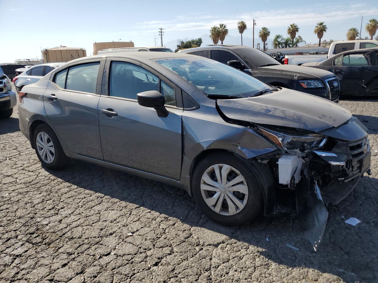
M 104 65 L 104 61 L 102 63 Z M 97 105 L 101 62 L 74 65 L 54 75 L 43 94 L 45 111 L 64 145 L 74 154 L 102 159 Z M 97 87 L 98 85 L 98 87 Z

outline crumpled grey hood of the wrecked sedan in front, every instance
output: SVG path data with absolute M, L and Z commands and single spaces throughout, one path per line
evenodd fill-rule
M 340 126 L 352 117 L 337 103 L 285 88 L 257 97 L 218 99 L 217 104 L 230 119 L 314 132 Z

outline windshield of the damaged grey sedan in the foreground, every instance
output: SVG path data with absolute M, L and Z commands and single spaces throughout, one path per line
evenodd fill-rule
M 156 60 L 208 96 L 251 97 L 270 86 L 235 68 L 206 58 Z

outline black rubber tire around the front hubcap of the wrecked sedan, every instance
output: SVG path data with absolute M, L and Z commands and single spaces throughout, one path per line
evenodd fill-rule
M 245 206 L 236 214 L 222 215 L 210 208 L 201 193 L 200 185 L 203 173 L 212 165 L 226 164 L 237 169 L 245 178 L 248 186 L 248 198 Z M 232 154 L 211 154 L 203 158 L 194 169 L 192 193 L 201 211 L 211 220 L 226 226 L 244 225 L 253 220 L 263 209 L 263 196 L 259 183 L 245 161 Z

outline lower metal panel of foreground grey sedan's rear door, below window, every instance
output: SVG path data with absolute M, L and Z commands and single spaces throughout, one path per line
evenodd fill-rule
M 55 95 L 56 100 L 47 98 Z M 49 81 L 43 94 L 45 111 L 67 148 L 80 155 L 102 159 L 97 106 L 100 96 L 60 90 Z

